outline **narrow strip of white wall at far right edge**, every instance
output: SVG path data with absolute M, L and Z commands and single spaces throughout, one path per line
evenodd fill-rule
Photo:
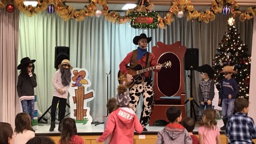
M 256 121 L 256 17 L 253 21 L 253 36 L 252 36 L 252 63 L 251 63 L 251 78 L 250 78 L 250 90 L 249 90 L 249 101 L 251 102 L 249 107 L 248 115 Z

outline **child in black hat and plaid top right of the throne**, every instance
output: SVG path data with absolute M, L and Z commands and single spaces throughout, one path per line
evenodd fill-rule
M 197 71 L 202 76 L 198 87 L 199 100 L 199 120 L 203 117 L 203 111 L 206 108 L 212 108 L 212 100 L 214 98 L 214 70 L 210 65 L 203 65 L 197 68 Z

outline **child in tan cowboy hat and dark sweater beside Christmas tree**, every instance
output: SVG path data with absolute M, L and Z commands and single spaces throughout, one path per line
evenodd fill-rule
M 225 131 L 228 118 L 233 116 L 234 102 L 239 91 L 235 78 L 231 77 L 233 74 L 237 74 L 233 67 L 225 66 L 220 73 L 224 74 L 225 77 L 221 80 L 221 90 L 219 92 L 219 103 L 222 99 L 222 121 L 224 123 L 220 130 Z

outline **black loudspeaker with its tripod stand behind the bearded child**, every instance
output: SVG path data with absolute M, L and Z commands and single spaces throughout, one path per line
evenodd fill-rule
M 59 69 L 59 65 L 62 60 L 68 59 L 69 60 L 69 47 L 67 46 L 55 46 L 55 52 L 54 52 L 54 68 L 56 70 Z M 67 106 L 70 108 L 70 106 L 67 103 Z M 38 118 L 38 122 L 41 121 L 41 119 L 47 114 L 50 113 L 49 110 L 51 109 L 52 106 L 50 106 L 44 114 Z M 58 109 L 56 110 L 58 111 Z M 50 113 L 51 114 L 51 113 Z M 69 115 L 69 114 L 68 114 Z M 66 115 L 67 116 L 67 115 Z M 56 117 L 57 119 L 57 117 Z M 59 121 L 59 118 L 57 119 Z

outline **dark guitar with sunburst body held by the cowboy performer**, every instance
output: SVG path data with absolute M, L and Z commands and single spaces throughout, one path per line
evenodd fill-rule
M 170 68 L 172 66 L 171 61 L 166 61 L 160 65 L 161 67 Z M 144 77 L 142 76 L 143 73 L 146 71 L 150 71 L 153 69 L 156 69 L 156 66 L 149 67 L 149 68 L 143 68 L 142 65 L 138 64 L 135 67 L 129 67 L 126 66 L 126 69 L 128 70 L 128 73 L 133 76 L 133 81 L 128 82 L 126 76 L 119 70 L 118 71 L 118 82 L 119 84 L 125 85 L 129 88 L 131 88 L 135 82 L 142 82 L 144 81 Z

